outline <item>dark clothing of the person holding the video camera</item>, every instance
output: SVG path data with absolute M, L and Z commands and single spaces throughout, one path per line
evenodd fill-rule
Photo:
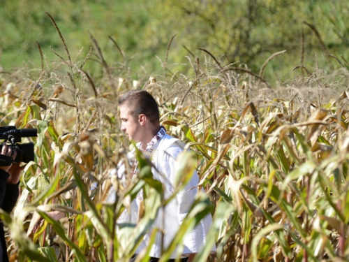
M 9 176 L 10 175 L 8 175 L 6 171 L 0 169 L 0 208 L 8 213 L 13 210 L 17 198 L 20 195 L 18 184 L 7 184 Z M 2 221 L 0 221 L 0 261 L 8 261 L 5 232 L 3 231 Z

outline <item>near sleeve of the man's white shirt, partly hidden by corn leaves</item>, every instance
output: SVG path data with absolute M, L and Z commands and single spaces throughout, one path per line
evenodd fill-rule
M 168 180 L 170 180 L 172 184 L 174 184 L 174 178 L 177 175 L 176 159 L 179 154 L 181 154 L 181 152 L 183 152 L 181 147 L 173 145 L 169 147 L 164 153 L 163 168 L 165 170 L 165 175 L 168 177 Z M 188 182 L 188 184 L 186 184 L 184 189 L 179 191 L 179 193 L 177 194 L 179 224 L 182 224 L 182 222 L 184 221 L 184 218 L 191 208 L 191 205 L 193 205 L 195 195 L 198 192 L 199 177 L 196 171 L 194 172 L 195 173 L 191 177 L 191 180 Z M 205 234 L 202 234 L 203 232 L 201 231 L 202 230 L 200 230 L 199 225 L 196 226 L 191 232 L 186 234 L 186 237 L 184 238 L 185 254 L 198 252 L 200 245 L 205 242 Z

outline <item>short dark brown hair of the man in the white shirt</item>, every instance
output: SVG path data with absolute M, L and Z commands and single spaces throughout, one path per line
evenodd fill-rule
M 135 119 L 144 114 L 151 123 L 160 122 L 158 104 L 154 97 L 145 90 L 128 91 L 119 98 L 119 105 L 127 105 Z

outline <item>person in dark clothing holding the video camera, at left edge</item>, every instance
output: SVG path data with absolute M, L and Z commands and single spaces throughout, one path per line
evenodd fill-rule
M 6 143 L 3 143 L 1 154 L 15 159 L 17 152 L 11 150 Z M 0 166 L 0 208 L 6 212 L 11 212 L 15 207 L 15 203 L 20 194 L 18 188 L 20 174 L 22 170 L 24 170 L 24 167 L 25 165 L 20 166 L 20 163 L 13 163 L 10 166 Z M 0 261 L 8 261 L 2 221 L 0 221 Z

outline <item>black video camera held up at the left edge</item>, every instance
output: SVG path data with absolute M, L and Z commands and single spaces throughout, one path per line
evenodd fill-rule
M 0 166 L 10 166 L 12 163 L 28 163 L 34 161 L 34 143 L 18 144 L 21 138 L 38 136 L 38 129 L 16 129 L 15 126 L 0 126 L 0 139 L 10 143 L 8 147 L 17 152 L 15 159 L 0 154 Z M 0 152 L 2 144 L 0 144 Z

